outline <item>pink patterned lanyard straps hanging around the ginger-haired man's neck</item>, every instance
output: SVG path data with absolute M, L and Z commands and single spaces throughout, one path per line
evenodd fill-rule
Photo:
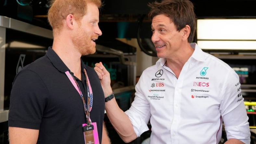
M 92 106 L 93 106 L 93 92 L 92 92 L 92 87 L 91 87 L 91 84 L 90 84 L 90 81 L 87 76 L 87 72 L 86 72 L 85 68 L 83 68 L 83 72 L 85 75 L 86 88 L 87 88 L 87 104 L 85 103 L 82 91 L 80 90 L 80 87 L 79 87 L 78 83 L 76 82 L 75 78 L 69 73 L 69 71 L 66 71 L 65 74 L 67 75 L 70 82 L 73 84 L 73 86 L 79 93 L 80 97 L 82 98 L 87 125 L 89 125 L 89 124 L 91 124 L 90 111 L 92 110 Z

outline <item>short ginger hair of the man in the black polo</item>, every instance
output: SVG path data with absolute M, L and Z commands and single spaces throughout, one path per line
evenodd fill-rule
M 48 10 L 48 21 L 52 29 L 62 28 L 62 21 L 69 14 L 74 15 L 77 20 L 86 14 L 87 3 L 101 6 L 101 0 L 51 0 Z

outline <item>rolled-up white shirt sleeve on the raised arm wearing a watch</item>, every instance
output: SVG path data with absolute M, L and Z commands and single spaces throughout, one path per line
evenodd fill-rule
M 143 83 L 141 76 L 135 86 L 136 92 L 132 106 L 125 112 L 132 122 L 137 137 L 139 137 L 143 132 L 149 130 L 147 123 L 151 117 L 149 103 L 142 91 L 144 87 L 143 85 L 145 85 L 145 83 Z

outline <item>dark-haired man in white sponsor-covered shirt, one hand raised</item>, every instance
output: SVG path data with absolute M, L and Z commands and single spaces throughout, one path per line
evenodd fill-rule
M 152 42 L 160 57 L 140 77 L 132 106 L 125 113 L 110 95 L 109 73 L 95 70 L 106 95 L 110 122 L 125 142 L 148 130 L 151 144 L 218 144 L 224 122 L 226 144 L 250 143 L 248 116 L 239 77 L 216 57 L 190 43 L 195 13 L 189 0 L 149 4 Z

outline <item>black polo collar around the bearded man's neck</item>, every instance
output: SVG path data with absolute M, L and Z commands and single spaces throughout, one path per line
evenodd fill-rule
M 53 66 L 55 66 L 59 71 L 65 73 L 66 71 L 70 71 L 70 69 L 64 64 L 64 62 L 60 59 L 58 54 L 55 53 L 55 51 L 52 49 L 52 47 L 48 48 L 48 51 L 46 53 L 46 56 L 50 59 Z M 85 65 L 83 64 L 83 61 L 81 59 L 81 67 L 86 69 Z

